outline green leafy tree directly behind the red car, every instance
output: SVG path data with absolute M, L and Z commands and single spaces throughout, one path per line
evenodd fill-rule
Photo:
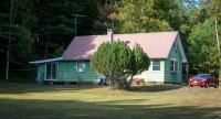
M 193 69 L 204 73 L 218 73 L 219 53 L 213 18 L 198 24 L 192 30 L 189 44 L 190 63 Z

